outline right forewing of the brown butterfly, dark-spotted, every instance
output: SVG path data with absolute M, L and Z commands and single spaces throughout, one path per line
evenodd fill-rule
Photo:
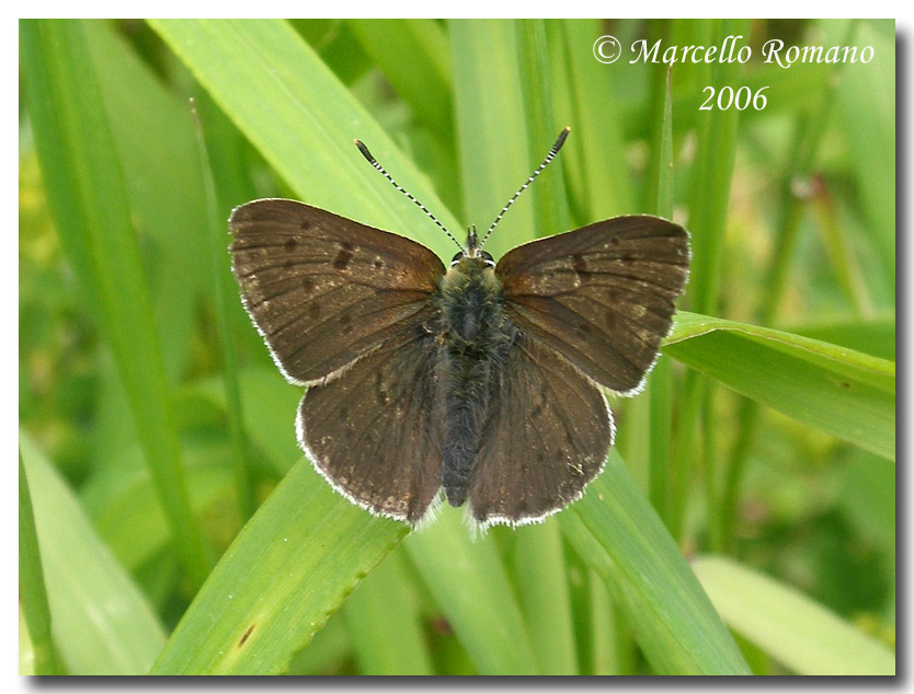
M 495 273 L 524 333 L 597 383 L 633 393 L 670 333 L 688 261 L 685 229 L 633 216 L 517 246 Z

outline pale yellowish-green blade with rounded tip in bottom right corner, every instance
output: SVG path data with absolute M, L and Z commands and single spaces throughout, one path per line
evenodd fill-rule
M 883 644 L 785 586 L 723 556 L 692 567 L 724 622 L 798 674 L 894 674 Z

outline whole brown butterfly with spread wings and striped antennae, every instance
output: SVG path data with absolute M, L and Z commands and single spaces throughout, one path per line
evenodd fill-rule
M 567 136 L 447 269 L 409 239 L 302 203 L 232 211 L 244 306 L 286 379 L 309 386 L 298 442 L 354 504 L 415 524 L 443 491 L 482 528 L 521 525 L 599 474 L 615 435 L 602 388 L 642 388 L 688 276 L 688 234 L 617 217 L 495 264 L 485 239 Z

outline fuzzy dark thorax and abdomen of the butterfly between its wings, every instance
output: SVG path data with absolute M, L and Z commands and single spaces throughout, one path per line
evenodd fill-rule
M 516 336 L 502 287 L 480 257 L 464 257 L 441 284 L 438 365 L 445 398 L 442 484 L 452 506 L 467 498 L 496 370 Z

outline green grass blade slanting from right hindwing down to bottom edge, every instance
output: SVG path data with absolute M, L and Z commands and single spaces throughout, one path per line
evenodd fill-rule
M 562 532 L 607 581 L 656 674 L 749 674 L 660 518 L 612 452 Z

